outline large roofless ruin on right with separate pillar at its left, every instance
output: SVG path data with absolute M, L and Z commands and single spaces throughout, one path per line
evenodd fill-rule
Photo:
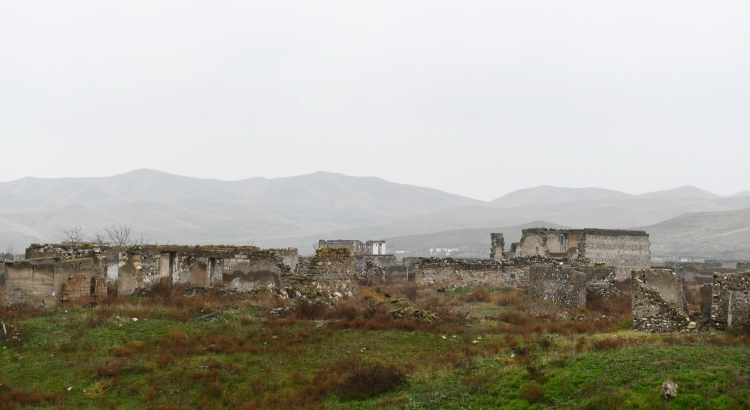
M 524 229 L 520 242 L 502 251 L 502 234 L 492 234 L 494 259 L 540 255 L 550 258 L 604 263 L 615 268 L 618 280 L 631 270 L 651 266 L 651 243 L 644 231 L 614 229 Z

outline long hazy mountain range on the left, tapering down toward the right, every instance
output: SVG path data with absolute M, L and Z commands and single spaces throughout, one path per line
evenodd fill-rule
M 53 242 L 56 227 L 132 225 L 151 242 L 245 243 L 482 204 L 436 189 L 317 172 L 241 181 L 137 170 L 0 183 L 0 244 Z

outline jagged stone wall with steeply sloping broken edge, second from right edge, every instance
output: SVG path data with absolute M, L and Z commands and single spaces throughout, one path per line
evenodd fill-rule
M 667 269 L 643 269 L 631 274 L 633 328 L 647 332 L 677 332 L 690 328 L 682 283 Z

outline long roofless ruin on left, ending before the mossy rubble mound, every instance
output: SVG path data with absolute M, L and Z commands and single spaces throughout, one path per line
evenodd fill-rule
M 117 295 L 132 295 L 163 280 L 281 292 L 283 278 L 298 265 L 296 249 L 254 246 L 35 244 L 27 249 L 26 257 L 5 263 L 7 304 L 54 306 L 73 299 L 96 301 L 106 296 L 108 283 Z

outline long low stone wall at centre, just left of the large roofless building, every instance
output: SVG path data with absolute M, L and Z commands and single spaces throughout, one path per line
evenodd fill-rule
M 495 259 L 416 258 L 420 285 L 517 287 L 528 281 L 528 267 L 505 269 Z

